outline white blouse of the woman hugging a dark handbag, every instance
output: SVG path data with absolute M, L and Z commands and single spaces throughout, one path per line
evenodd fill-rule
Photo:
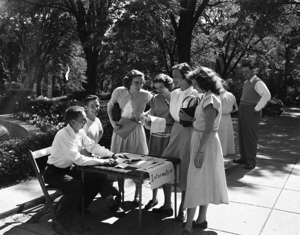
M 184 98 L 190 95 L 198 96 L 199 98 L 202 97 L 202 94 L 199 94 L 197 90 L 193 89 L 192 86 L 188 87 L 184 91 L 178 88 L 171 92 L 170 114 L 175 122 L 179 122 L 179 111 L 182 105 L 182 101 L 184 100 Z

